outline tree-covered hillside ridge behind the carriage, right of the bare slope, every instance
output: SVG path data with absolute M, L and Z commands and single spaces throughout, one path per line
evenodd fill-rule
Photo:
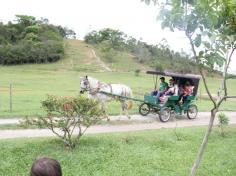
M 84 40 L 98 47 L 110 62 L 115 62 L 114 56 L 118 52 L 129 52 L 140 63 L 150 65 L 156 70 L 181 73 L 197 72 L 193 59 L 183 51 L 171 50 L 165 39 L 158 45 L 150 45 L 119 30 L 106 28 L 88 33 Z

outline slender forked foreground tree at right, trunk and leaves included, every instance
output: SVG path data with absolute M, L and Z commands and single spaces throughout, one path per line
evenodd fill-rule
M 145 0 L 150 4 L 150 0 Z M 198 65 L 206 92 L 212 102 L 211 118 L 190 175 L 195 175 L 208 143 L 216 113 L 229 96 L 227 91 L 228 68 L 236 49 L 236 3 L 233 0 L 171 0 L 160 5 L 159 19 L 162 27 L 171 31 L 184 31 L 189 40 L 192 54 Z M 222 83 L 217 97 L 208 88 L 204 67 L 223 68 Z

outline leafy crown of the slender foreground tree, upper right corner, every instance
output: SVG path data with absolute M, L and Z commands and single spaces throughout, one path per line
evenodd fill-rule
M 163 28 L 185 31 L 200 50 L 196 53 L 198 62 L 213 70 L 216 65 L 222 68 L 227 52 L 236 47 L 236 6 L 232 2 L 172 0 L 171 7 L 161 7 L 158 18 Z

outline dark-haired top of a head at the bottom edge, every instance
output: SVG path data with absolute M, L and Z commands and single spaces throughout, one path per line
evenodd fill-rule
M 30 176 L 62 176 L 60 163 L 52 158 L 40 157 L 33 163 Z

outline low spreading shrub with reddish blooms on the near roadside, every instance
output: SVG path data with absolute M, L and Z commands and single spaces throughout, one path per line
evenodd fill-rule
M 42 107 L 47 113 L 46 116 L 36 119 L 26 118 L 23 124 L 39 128 L 47 127 L 71 149 L 75 147 L 86 129 L 99 122 L 103 116 L 97 101 L 82 96 L 74 98 L 48 95 L 47 99 L 42 101 Z M 72 137 L 74 133 L 76 139 Z

